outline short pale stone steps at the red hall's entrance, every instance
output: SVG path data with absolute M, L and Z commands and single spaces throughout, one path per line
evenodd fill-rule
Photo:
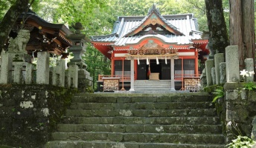
M 134 90 L 170 90 L 170 80 L 136 80 L 134 81 Z

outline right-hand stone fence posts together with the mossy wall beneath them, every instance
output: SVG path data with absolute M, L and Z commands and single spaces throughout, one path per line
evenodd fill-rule
M 252 138 L 256 140 L 255 91 L 243 89 L 244 84 L 254 81 L 254 74 L 241 79 L 243 77 L 240 75 L 238 57 L 238 46 L 226 47 L 225 61 L 223 53 L 217 53 L 214 59 L 205 61 L 205 70 L 200 77 L 203 87 L 223 85 L 225 96 L 217 100 L 216 107 L 223 123 L 223 134 L 227 144 L 237 135 L 251 137 L 251 133 Z M 245 64 L 246 71 L 254 71 L 252 58 L 246 58 Z

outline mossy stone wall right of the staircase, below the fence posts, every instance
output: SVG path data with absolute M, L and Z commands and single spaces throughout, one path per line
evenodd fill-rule
M 237 135 L 251 137 L 252 121 L 256 116 L 256 91 L 244 90 L 243 83 L 226 83 L 225 96 L 216 102 L 228 144 Z

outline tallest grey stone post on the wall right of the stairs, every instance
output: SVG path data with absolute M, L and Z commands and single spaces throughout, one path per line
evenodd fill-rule
M 239 82 L 239 58 L 238 58 L 238 46 L 225 47 L 225 64 L 227 82 Z

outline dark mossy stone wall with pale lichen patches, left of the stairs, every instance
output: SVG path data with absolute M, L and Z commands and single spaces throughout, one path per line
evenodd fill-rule
M 0 145 L 42 147 L 75 92 L 50 85 L 0 85 Z

